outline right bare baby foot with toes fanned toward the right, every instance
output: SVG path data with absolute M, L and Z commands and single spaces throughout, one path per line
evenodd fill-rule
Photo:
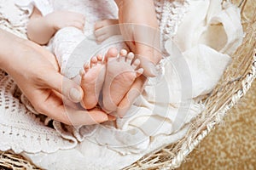
M 107 54 L 107 72 L 102 88 L 102 108 L 110 113 L 116 111 L 117 105 L 130 90 L 132 83 L 143 74 L 143 69 L 137 69 L 140 60 L 136 59 L 132 64 L 134 54 L 125 49 L 120 51 L 119 57 L 116 48 L 110 48 Z

